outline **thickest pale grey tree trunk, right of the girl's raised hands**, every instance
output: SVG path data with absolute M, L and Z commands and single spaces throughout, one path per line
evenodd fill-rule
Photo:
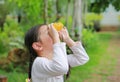
M 82 35 L 82 0 L 74 0 L 73 10 L 72 30 L 74 31 L 74 34 L 72 36 L 75 36 L 80 40 Z

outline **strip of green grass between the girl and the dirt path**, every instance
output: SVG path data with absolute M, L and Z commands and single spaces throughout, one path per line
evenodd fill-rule
M 99 62 L 104 56 L 104 53 L 106 52 L 106 49 L 108 47 L 109 41 L 112 37 L 111 33 L 98 33 L 99 37 L 99 48 L 92 49 L 90 48 L 87 50 L 87 53 L 90 57 L 90 60 L 88 63 L 86 63 L 83 66 L 75 67 L 71 69 L 71 75 L 70 78 L 67 80 L 67 82 L 83 82 L 83 80 L 87 78 L 91 78 L 91 74 L 96 71 L 96 67 L 99 66 Z

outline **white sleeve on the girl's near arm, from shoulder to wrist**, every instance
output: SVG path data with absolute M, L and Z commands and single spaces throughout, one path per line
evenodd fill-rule
M 38 74 L 37 76 L 48 78 L 67 73 L 68 61 L 65 43 L 56 43 L 53 45 L 53 48 L 54 57 L 52 60 L 43 57 L 38 57 L 35 60 L 33 73 L 36 72 L 36 74 Z

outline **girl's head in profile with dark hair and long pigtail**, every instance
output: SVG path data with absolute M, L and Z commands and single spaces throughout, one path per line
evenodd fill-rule
M 48 33 L 47 25 L 37 25 L 32 27 L 25 35 L 25 46 L 30 53 L 29 78 L 31 78 L 31 68 L 34 59 L 42 56 L 43 53 L 52 53 L 53 40 Z

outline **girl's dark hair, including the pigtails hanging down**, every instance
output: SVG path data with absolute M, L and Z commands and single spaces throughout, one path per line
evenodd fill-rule
M 27 33 L 25 34 L 25 46 L 28 49 L 28 52 L 30 54 L 30 61 L 29 61 L 29 72 L 28 72 L 28 78 L 31 79 L 31 70 L 32 70 L 32 64 L 34 59 L 37 57 L 37 53 L 35 52 L 35 50 L 32 47 L 33 42 L 37 42 L 38 41 L 38 30 L 41 26 L 43 26 L 45 24 L 42 25 L 36 25 L 34 27 L 32 27 L 30 30 L 27 31 Z M 69 67 L 69 71 L 66 75 L 66 79 L 69 77 L 69 72 L 70 72 L 70 67 Z

